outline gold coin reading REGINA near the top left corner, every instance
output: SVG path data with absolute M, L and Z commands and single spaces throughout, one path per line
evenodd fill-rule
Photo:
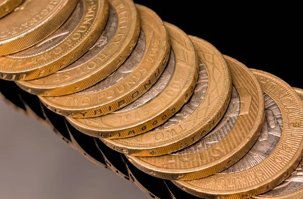
M 18 1 L 8 2 L 17 3 Z M 76 0 L 27 0 L 24 2 L 10 15 L 0 19 L 0 55 L 24 50 L 46 38 L 67 20 L 76 4 Z M 24 64 L 20 60 L 10 60 L 8 63 L 4 59 L 1 62 L 3 63 L 1 72 L 7 70 L 7 73 L 18 70 L 20 65 Z

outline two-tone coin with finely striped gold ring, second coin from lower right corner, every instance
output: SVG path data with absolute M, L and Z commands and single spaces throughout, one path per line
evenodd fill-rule
M 207 136 L 181 151 L 158 157 L 127 156 L 136 167 L 164 179 L 199 179 L 228 168 L 254 145 L 264 123 L 263 92 L 244 64 L 224 57 L 233 89 L 221 121 Z

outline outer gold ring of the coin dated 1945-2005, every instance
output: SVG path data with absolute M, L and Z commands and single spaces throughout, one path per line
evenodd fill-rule
M 88 125 L 85 119 L 76 119 L 82 122 L 84 132 L 92 131 L 98 137 L 116 139 L 127 138 L 142 134 L 161 123 L 165 122 L 176 113 L 193 93 L 198 78 L 198 59 L 194 47 L 188 36 L 174 25 L 165 23 L 170 35 L 172 50 L 175 55 L 175 69 L 167 87 L 148 103 L 123 113 L 107 114 L 94 118 L 107 125 L 118 125 L 117 119 L 121 118 L 120 126 Z M 180 41 L 178 41 L 180 39 Z M 183 60 L 187 57 L 186 60 Z M 140 119 L 135 118 L 138 115 Z M 133 120 L 124 121 L 127 116 Z M 94 123 L 92 123 L 94 124 Z M 76 124 L 77 125 L 77 124 Z M 95 135 L 91 134 L 91 135 Z

